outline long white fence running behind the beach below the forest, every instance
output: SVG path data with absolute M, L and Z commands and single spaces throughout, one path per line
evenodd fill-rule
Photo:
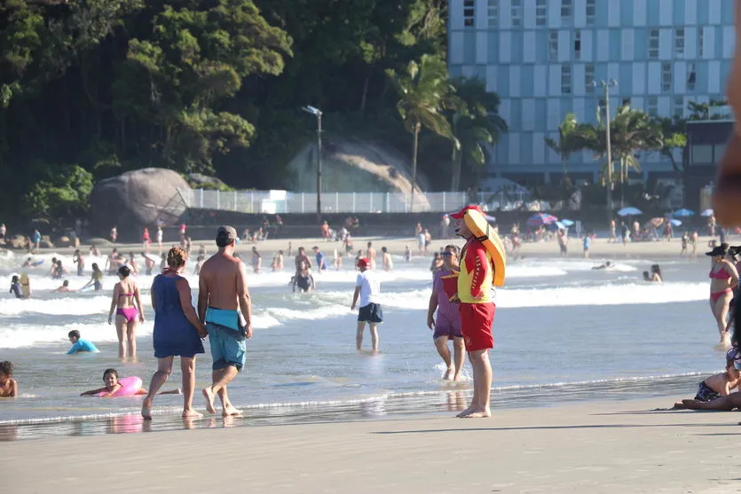
M 274 215 L 285 213 L 315 213 L 315 192 L 233 191 L 180 189 L 185 205 L 192 209 L 217 209 Z M 477 202 L 485 202 L 491 192 L 479 194 Z M 456 211 L 471 202 L 468 192 L 428 192 L 414 194 L 414 212 Z M 323 192 L 321 209 L 324 213 L 409 213 L 412 197 L 401 192 Z

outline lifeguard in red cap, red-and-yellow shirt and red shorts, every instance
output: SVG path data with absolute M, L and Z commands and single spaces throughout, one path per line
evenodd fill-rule
M 463 220 L 469 209 L 484 214 L 477 206 L 467 206 L 451 217 L 457 222 L 455 232 L 466 239 L 466 245 L 461 250 L 458 298 L 461 299 L 461 333 L 473 367 L 473 398 L 469 408 L 459 413 L 458 417 L 476 419 L 492 416 L 489 405 L 492 389 L 489 349 L 494 348 L 492 325 L 496 306 L 493 302 L 492 256 L 484 244 L 474 238 Z

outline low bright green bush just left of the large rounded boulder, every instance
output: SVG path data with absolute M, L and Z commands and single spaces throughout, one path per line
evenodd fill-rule
M 92 187 L 91 173 L 73 165 L 31 186 L 21 207 L 28 216 L 36 218 L 71 219 L 87 210 Z

